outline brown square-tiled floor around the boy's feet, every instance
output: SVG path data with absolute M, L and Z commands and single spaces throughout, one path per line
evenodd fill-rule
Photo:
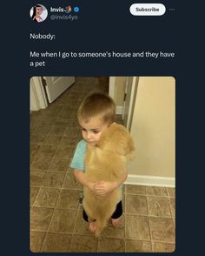
M 175 189 L 123 186 L 122 223 L 96 239 L 82 217 L 82 190 L 69 168 L 81 131 L 76 110 L 89 91 L 108 91 L 105 77 L 76 84 L 30 115 L 30 250 L 35 253 L 131 253 L 175 250 Z M 121 122 L 117 117 L 118 122 Z

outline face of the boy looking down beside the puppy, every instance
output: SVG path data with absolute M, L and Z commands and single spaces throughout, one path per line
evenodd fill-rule
M 88 123 L 80 121 L 80 125 L 82 127 L 83 138 L 89 143 L 89 145 L 97 145 L 102 132 L 109 127 L 108 124 L 103 123 L 99 118 L 90 119 Z

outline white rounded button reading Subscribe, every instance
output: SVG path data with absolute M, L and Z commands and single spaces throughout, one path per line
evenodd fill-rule
M 162 3 L 133 3 L 129 11 L 134 16 L 162 16 L 166 8 Z

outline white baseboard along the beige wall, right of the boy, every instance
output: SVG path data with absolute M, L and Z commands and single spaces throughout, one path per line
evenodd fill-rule
M 175 178 L 129 174 L 124 184 L 175 187 Z

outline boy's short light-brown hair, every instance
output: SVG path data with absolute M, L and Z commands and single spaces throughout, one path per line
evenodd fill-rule
M 90 118 L 101 118 L 104 123 L 112 124 L 115 120 L 116 104 L 112 98 L 101 92 L 93 92 L 83 99 L 77 111 L 80 122 L 88 123 Z

